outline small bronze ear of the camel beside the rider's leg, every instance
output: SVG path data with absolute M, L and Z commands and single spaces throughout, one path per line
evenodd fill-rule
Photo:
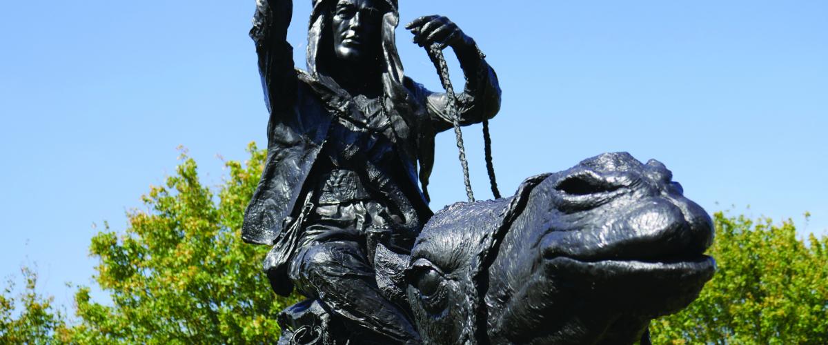
M 377 244 L 373 256 L 374 270 L 377 272 L 377 285 L 385 298 L 399 305 L 408 305 L 406 299 L 407 281 L 405 271 L 410 257 L 392 252 L 382 243 Z

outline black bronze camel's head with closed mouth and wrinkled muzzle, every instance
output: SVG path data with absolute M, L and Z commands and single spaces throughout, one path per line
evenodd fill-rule
M 712 239 L 662 163 L 604 154 L 437 213 L 407 300 L 426 343 L 633 343 L 696 299 Z

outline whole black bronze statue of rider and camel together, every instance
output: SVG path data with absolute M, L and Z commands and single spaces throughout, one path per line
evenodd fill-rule
M 250 33 L 270 120 L 243 238 L 272 246 L 275 292 L 308 298 L 280 314 L 280 344 L 648 343 L 649 321 L 710 280 L 709 216 L 661 163 L 624 153 L 432 213 L 436 133 L 498 113 L 496 74 L 454 23 L 420 17 L 406 27 L 446 87 L 431 92 L 403 74 L 397 0 L 312 5 L 306 70 L 291 0 L 258 0 Z

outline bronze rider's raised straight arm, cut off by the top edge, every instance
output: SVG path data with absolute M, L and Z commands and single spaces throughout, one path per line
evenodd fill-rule
M 250 37 L 256 42 L 262 89 L 271 113 L 286 111 L 296 101 L 293 47 L 287 43 L 292 15 L 292 0 L 256 0 Z

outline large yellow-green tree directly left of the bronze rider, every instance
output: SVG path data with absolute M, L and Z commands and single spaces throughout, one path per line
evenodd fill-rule
M 218 197 L 200 184 L 196 164 L 182 155 L 176 175 L 142 197 L 123 234 L 108 226 L 92 238 L 100 287 L 75 296 L 79 322 L 70 343 L 272 343 L 276 316 L 295 302 L 273 294 L 260 262 L 268 247 L 241 241 L 244 208 L 266 156 L 251 144 L 246 165 L 226 163 Z

